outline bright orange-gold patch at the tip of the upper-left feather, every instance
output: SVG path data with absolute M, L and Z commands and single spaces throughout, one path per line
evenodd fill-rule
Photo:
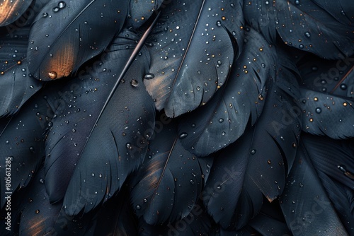
M 74 61 L 76 60 L 74 52 L 75 47 L 71 43 L 62 45 L 55 54 L 52 54 L 43 73 L 51 79 L 68 76 L 74 69 Z

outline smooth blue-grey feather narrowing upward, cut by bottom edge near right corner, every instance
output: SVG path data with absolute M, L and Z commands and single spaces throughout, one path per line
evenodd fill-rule
M 294 235 L 347 235 L 300 141 L 280 206 Z

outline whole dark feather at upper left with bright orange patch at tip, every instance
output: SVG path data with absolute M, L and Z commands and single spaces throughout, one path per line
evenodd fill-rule
M 103 52 L 125 23 L 127 3 L 50 1 L 31 28 L 30 72 L 42 81 L 69 76 L 85 61 Z

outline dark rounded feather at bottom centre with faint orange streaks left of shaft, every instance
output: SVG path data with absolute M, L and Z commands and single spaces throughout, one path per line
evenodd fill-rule
M 147 158 L 133 178 L 132 203 L 137 216 L 149 224 L 171 222 L 188 216 L 202 191 L 202 165 L 181 146 L 177 124 L 156 126 Z

